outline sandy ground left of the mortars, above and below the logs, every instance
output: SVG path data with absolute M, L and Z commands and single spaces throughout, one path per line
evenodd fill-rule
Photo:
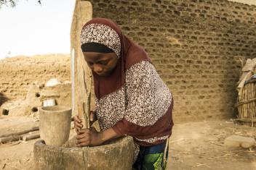
M 0 116 L 0 135 L 39 126 L 38 119 L 28 116 Z M 0 169 L 31 169 L 33 167 L 33 143 L 16 141 L 0 144 Z

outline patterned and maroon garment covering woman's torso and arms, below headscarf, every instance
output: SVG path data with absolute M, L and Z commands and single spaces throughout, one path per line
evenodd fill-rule
M 100 129 L 113 128 L 134 137 L 138 145 L 156 145 L 172 131 L 172 94 L 149 61 L 125 72 L 125 84 L 96 102 Z

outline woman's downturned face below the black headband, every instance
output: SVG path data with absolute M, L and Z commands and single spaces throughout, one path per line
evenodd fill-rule
M 83 54 L 92 72 L 100 76 L 110 75 L 119 59 L 115 53 L 84 52 Z

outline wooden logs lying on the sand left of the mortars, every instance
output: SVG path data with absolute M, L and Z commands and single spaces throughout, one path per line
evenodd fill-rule
M 9 143 L 17 140 L 33 140 L 39 138 L 39 127 L 32 127 L 31 129 L 25 129 L 20 132 L 12 132 L 4 135 L 0 135 L 0 143 Z

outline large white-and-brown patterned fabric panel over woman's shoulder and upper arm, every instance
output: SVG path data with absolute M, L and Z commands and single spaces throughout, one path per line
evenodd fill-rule
M 148 61 L 133 65 L 126 74 L 127 109 L 124 118 L 140 126 L 149 126 L 163 116 L 172 95 Z

